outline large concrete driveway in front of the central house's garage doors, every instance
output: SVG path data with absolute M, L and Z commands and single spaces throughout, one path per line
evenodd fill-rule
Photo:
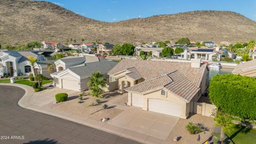
M 130 107 L 108 123 L 165 140 L 178 120 L 179 117 Z

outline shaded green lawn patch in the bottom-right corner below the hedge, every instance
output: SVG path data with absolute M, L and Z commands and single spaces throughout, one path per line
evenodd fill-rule
M 256 130 L 241 125 L 236 125 L 227 135 L 229 140 L 236 144 L 255 143 L 256 141 Z

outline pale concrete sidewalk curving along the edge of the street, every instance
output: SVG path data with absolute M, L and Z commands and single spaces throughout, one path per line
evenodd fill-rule
M 25 95 L 18 101 L 18 105 L 22 108 L 27 108 L 27 109 L 38 111 L 40 113 L 44 113 L 47 115 L 52 115 L 59 118 L 67 119 L 69 121 L 72 121 L 78 124 L 90 126 L 90 127 L 93 127 L 94 129 L 102 130 L 102 131 L 112 133 L 124 138 L 132 139 L 141 143 L 161 143 L 161 144 L 171 143 L 171 141 L 166 141 L 163 139 L 152 137 L 147 134 L 142 134 L 139 132 L 124 129 L 122 127 L 115 126 L 109 123 L 97 121 L 94 119 L 89 119 L 88 117 L 82 117 L 79 115 L 74 115 L 74 114 L 63 112 L 63 111 L 54 110 L 49 107 L 34 105 L 29 102 L 30 98 L 35 93 L 34 89 L 30 86 L 21 85 L 21 84 L 8 84 L 8 83 L 0 83 L 0 85 L 17 86 L 26 91 Z

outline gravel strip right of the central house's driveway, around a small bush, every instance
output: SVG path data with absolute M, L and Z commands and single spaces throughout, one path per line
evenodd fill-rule
M 181 139 L 176 143 L 198 143 L 198 134 L 190 134 L 185 128 L 188 122 L 192 122 L 194 124 L 200 123 L 207 128 L 207 131 L 199 133 L 201 137 L 201 143 L 211 137 L 212 128 L 214 127 L 213 118 L 199 114 L 190 114 L 188 119 L 179 119 L 178 123 L 174 126 L 172 132 L 169 134 L 166 140 L 174 142 L 174 137 L 181 137 Z

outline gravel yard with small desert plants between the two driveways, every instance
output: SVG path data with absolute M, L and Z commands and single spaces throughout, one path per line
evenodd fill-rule
M 70 95 L 68 101 L 60 102 L 54 105 L 51 105 L 53 109 L 65 111 L 67 113 L 81 115 L 84 117 L 89 117 L 91 119 L 101 120 L 103 117 L 114 118 L 120 114 L 123 110 L 115 108 L 115 105 L 109 105 L 108 101 L 118 97 L 119 93 L 117 92 L 107 92 L 103 94 L 103 98 L 100 103 L 96 102 L 96 99 L 91 95 L 85 95 L 83 97 L 83 102 L 78 103 L 77 95 Z M 93 106 L 92 103 L 94 103 Z M 103 104 L 106 103 L 109 105 L 107 109 L 103 109 Z

